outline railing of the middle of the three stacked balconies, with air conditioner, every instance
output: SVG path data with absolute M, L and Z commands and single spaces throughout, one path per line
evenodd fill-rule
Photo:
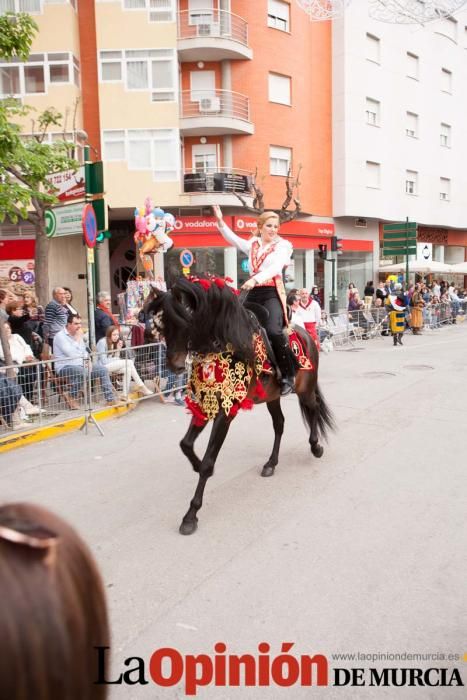
M 250 121 L 250 101 L 245 95 L 230 90 L 183 90 L 181 118 L 228 117 Z

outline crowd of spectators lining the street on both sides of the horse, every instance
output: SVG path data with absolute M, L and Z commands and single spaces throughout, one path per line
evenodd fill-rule
M 375 329 L 382 335 L 393 333 L 394 300 L 399 322 L 403 310 L 403 330 L 417 335 L 426 326 L 436 328 L 463 318 L 467 293 L 443 280 L 417 282 L 404 289 L 400 281 L 387 279 L 377 285 L 368 281 L 361 295 L 351 282 L 346 313 L 332 318 L 321 308 L 317 287 L 293 289 L 287 296 L 291 321 L 306 329 L 324 352 L 332 350 L 349 328 L 362 339 L 371 337 Z M 31 292 L 19 296 L 0 289 L 0 422 L 9 428 L 28 427 L 34 416 L 46 412 L 46 397 L 51 392 L 59 394 L 69 410 L 80 409 L 88 383 L 89 388 L 100 386 L 102 403 L 108 406 L 131 402 L 132 387 L 142 396 L 161 395 L 161 368 L 165 401 L 184 405 L 186 375 L 165 369 L 163 338 L 142 307 L 118 318 L 112 312 L 110 294 L 102 291 L 97 295 L 94 320 L 97 347 L 91 352 L 69 288 L 55 287 L 45 308 Z M 148 380 L 153 383 L 151 388 L 145 383 Z

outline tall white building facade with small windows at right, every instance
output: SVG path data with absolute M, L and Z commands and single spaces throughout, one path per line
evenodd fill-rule
M 467 12 L 386 24 L 366 0 L 333 22 L 333 213 L 344 237 L 419 224 L 439 261 L 467 246 Z M 357 223 L 357 226 L 356 226 Z

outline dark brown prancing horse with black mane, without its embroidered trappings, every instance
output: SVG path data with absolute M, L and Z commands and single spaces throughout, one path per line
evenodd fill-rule
M 235 361 L 253 367 L 255 363 L 254 337 L 258 334 L 257 318 L 239 301 L 238 296 L 223 280 L 189 281 L 180 278 L 170 292 L 156 291 L 156 298 L 147 307 L 147 312 L 155 314 L 155 324 L 165 338 L 168 367 L 177 373 L 185 370 L 188 353 L 203 358 L 213 353 L 232 351 Z M 326 437 L 328 428 L 334 428 L 334 421 L 323 395 L 318 387 L 319 355 L 316 345 L 302 329 L 295 329 L 308 350 L 313 365 L 312 370 L 297 372 L 295 392 L 300 402 L 303 420 L 309 428 L 311 453 L 322 457 L 323 447 L 320 438 Z M 261 390 L 258 390 L 258 384 Z M 264 389 L 264 391 L 263 391 Z M 279 447 L 284 431 L 284 415 L 280 405 L 280 389 L 275 373 L 253 372 L 247 387 L 247 399 L 254 403 L 266 403 L 274 427 L 274 444 L 271 455 L 263 466 L 261 476 L 272 476 L 279 461 Z M 222 396 L 218 397 L 219 403 Z M 214 472 L 217 456 L 229 431 L 233 419 L 222 408 L 213 417 L 213 424 L 206 452 L 200 459 L 194 451 L 194 443 L 207 421 L 192 418 L 180 447 L 199 475 L 195 495 L 180 525 L 183 535 L 191 535 L 197 528 L 197 513 L 203 504 L 206 482 Z

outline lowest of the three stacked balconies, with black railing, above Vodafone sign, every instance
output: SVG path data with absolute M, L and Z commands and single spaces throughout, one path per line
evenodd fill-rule
M 239 203 L 236 193 L 247 199 L 253 196 L 253 174 L 236 168 L 205 168 L 185 170 L 183 192 L 191 195 L 191 203 L 196 205 L 216 204 L 235 205 Z

